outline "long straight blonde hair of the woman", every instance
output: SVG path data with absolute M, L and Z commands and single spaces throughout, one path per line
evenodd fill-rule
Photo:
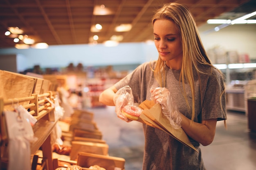
M 195 69 L 195 71 L 199 75 L 199 73 L 203 73 L 198 68 L 199 64 L 209 65 L 212 68 L 214 66 L 211 64 L 211 61 L 207 56 L 207 53 L 204 49 L 204 46 L 199 36 L 197 26 L 193 19 L 193 15 L 191 14 L 191 12 L 187 7 L 175 2 L 165 4 L 162 8 L 158 9 L 155 12 L 155 15 L 153 15 L 152 25 L 154 25 L 156 20 L 160 20 L 160 19 L 172 20 L 175 23 L 177 30 L 180 30 L 182 52 L 183 52 L 180 82 L 182 82 L 183 89 L 185 89 L 184 88 L 185 82 L 187 82 L 190 86 L 191 94 L 192 94 L 191 120 L 194 120 L 195 118 L 195 85 L 194 85 L 193 69 Z M 157 79 L 157 82 L 162 87 L 165 87 L 165 83 L 166 83 L 164 66 L 165 66 L 165 62 L 161 59 L 161 57 L 158 57 L 157 64 L 154 69 L 154 76 Z M 223 90 L 222 95 L 224 93 L 225 92 Z M 190 108 L 185 90 L 183 95 L 186 99 L 186 103 L 188 107 Z M 222 99 L 222 95 L 220 96 L 220 102 Z M 202 97 L 201 97 L 201 101 L 202 101 Z

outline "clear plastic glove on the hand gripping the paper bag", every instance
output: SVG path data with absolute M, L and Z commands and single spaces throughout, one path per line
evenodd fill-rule
M 181 113 L 177 110 L 176 104 L 173 102 L 173 98 L 167 88 L 151 87 L 151 97 L 155 103 L 159 103 L 162 106 L 162 113 L 168 118 L 173 128 L 178 129 L 181 127 Z

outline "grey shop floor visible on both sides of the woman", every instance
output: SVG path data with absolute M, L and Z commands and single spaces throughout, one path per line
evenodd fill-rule
M 117 118 L 115 107 L 91 109 L 94 120 L 109 145 L 109 155 L 126 159 L 126 170 L 141 170 L 144 134 L 141 123 Z M 256 133 L 249 132 L 244 113 L 229 112 L 228 128 L 217 122 L 213 143 L 202 146 L 207 170 L 255 170 Z

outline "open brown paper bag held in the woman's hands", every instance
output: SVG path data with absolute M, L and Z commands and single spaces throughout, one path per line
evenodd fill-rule
M 154 101 L 145 100 L 139 105 L 139 107 L 141 107 L 143 111 L 138 121 L 149 126 L 159 128 L 160 130 L 164 130 L 166 133 L 182 142 L 182 144 L 198 152 L 198 150 L 196 150 L 196 148 L 191 144 L 188 136 L 182 128 L 175 129 L 171 126 L 167 117 L 162 114 L 162 107 L 160 104 L 155 104 Z

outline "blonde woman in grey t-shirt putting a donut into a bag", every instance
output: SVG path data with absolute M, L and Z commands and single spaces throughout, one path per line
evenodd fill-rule
M 130 121 L 121 113 L 123 106 L 131 100 L 140 104 L 153 99 L 162 105 L 170 124 L 182 128 L 199 151 L 143 124 L 143 170 L 205 170 L 199 146 L 211 144 L 216 122 L 227 119 L 224 78 L 207 57 L 193 16 L 185 6 L 165 4 L 153 15 L 152 25 L 158 60 L 138 66 L 103 91 L 99 101 L 116 106 L 117 116 Z

